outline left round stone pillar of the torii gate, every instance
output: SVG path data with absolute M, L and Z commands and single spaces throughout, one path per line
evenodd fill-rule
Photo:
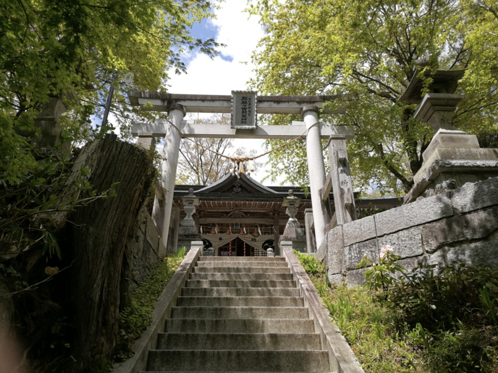
M 183 105 L 174 104 L 169 111 L 169 120 L 179 129 L 186 113 L 187 111 Z M 161 237 L 162 243 L 166 249 L 168 248 L 169 222 L 171 220 L 173 190 L 175 188 L 176 167 L 178 165 L 179 153 L 180 133 L 168 123 L 166 126 L 166 135 L 164 136 L 160 169 L 163 198 L 159 199 L 156 196 L 152 209 L 152 220 L 157 227 L 159 237 Z M 171 248 L 171 250 L 176 250 L 176 247 Z

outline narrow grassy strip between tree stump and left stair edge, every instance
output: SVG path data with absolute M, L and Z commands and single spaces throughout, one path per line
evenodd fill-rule
M 182 248 L 164 258 L 159 265 L 150 271 L 131 295 L 131 305 L 120 313 L 120 335 L 115 348 L 114 361 L 123 362 L 133 356 L 131 346 L 152 322 L 152 312 L 157 299 L 171 280 L 178 266 L 185 257 Z

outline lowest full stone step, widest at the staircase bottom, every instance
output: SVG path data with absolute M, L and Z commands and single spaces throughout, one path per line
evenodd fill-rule
M 329 372 L 327 351 L 151 350 L 148 372 Z

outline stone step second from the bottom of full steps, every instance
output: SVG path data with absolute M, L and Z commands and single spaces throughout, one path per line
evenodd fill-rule
M 321 350 L 320 335 L 269 333 L 160 333 L 157 350 Z

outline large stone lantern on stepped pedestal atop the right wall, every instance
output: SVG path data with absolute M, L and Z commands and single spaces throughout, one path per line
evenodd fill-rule
M 461 187 L 467 182 L 487 179 L 498 166 L 493 149 L 479 147 L 477 136 L 468 135 L 452 125 L 455 110 L 463 96 L 455 94 L 465 70 L 436 70 L 425 73 L 433 80 L 429 93 L 422 97 L 423 81 L 416 74 L 398 101 L 418 104 L 413 117 L 432 127 L 434 137 L 422 153 L 423 164 L 414 175 L 414 187 L 405 203 L 417 197 Z M 483 171 L 488 171 L 483 173 Z M 496 169 L 495 172 L 498 172 Z

